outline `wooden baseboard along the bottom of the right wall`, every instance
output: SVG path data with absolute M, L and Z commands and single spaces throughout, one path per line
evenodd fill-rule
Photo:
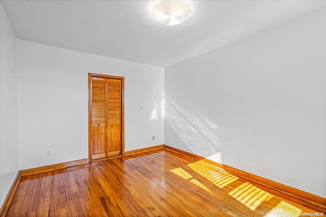
M 171 150 L 180 154 L 183 154 L 184 156 L 187 156 L 189 158 L 193 158 L 195 160 L 203 160 L 205 158 L 200 157 L 196 154 L 189 153 L 184 150 L 180 150 L 175 147 L 171 147 L 169 145 L 164 145 L 164 149 L 166 150 Z M 216 164 L 216 163 L 215 163 Z M 283 198 L 286 198 L 290 201 L 296 202 L 303 204 L 304 206 L 307 206 L 309 208 L 317 209 L 323 212 L 326 212 L 326 198 L 298 190 L 295 188 L 292 188 L 288 185 L 263 178 L 242 170 L 238 170 L 236 168 L 221 164 L 219 165 L 223 169 L 225 169 L 227 172 L 232 173 L 235 176 L 245 178 L 247 180 L 250 180 L 254 182 L 256 187 L 261 188 L 261 189 L 267 189 L 270 193 L 281 196 Z

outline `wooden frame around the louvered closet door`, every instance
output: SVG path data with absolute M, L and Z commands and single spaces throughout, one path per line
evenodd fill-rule
M 88 73 L 88 159 L 92 162 L 92 91 L 91 91 L 91 78 L 111 78 L 121 80 L 121 155 L 124 156 L 124 77 L 114 76 L 114 75 L 102 75 L 96 73 Z M 115 156 L 114 156 L 115 157 Z

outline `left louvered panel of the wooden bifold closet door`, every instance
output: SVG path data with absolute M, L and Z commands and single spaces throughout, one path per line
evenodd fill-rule
M 106 78 L 91 78 L 91 158 L 105 158 Z

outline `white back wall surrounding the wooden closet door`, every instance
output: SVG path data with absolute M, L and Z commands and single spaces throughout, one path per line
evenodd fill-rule
M 125 77 L 125 151 L 164 143 L 163 68 L 17 40 L 17 71 L 20 170 L 88 158 L 88 72 Z

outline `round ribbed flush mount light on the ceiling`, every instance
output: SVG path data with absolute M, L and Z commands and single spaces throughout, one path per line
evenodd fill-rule
M 154 0 L 152 15 L 157 22 L 176 25 L 183 22 L 190 14 L 191 1 Z

